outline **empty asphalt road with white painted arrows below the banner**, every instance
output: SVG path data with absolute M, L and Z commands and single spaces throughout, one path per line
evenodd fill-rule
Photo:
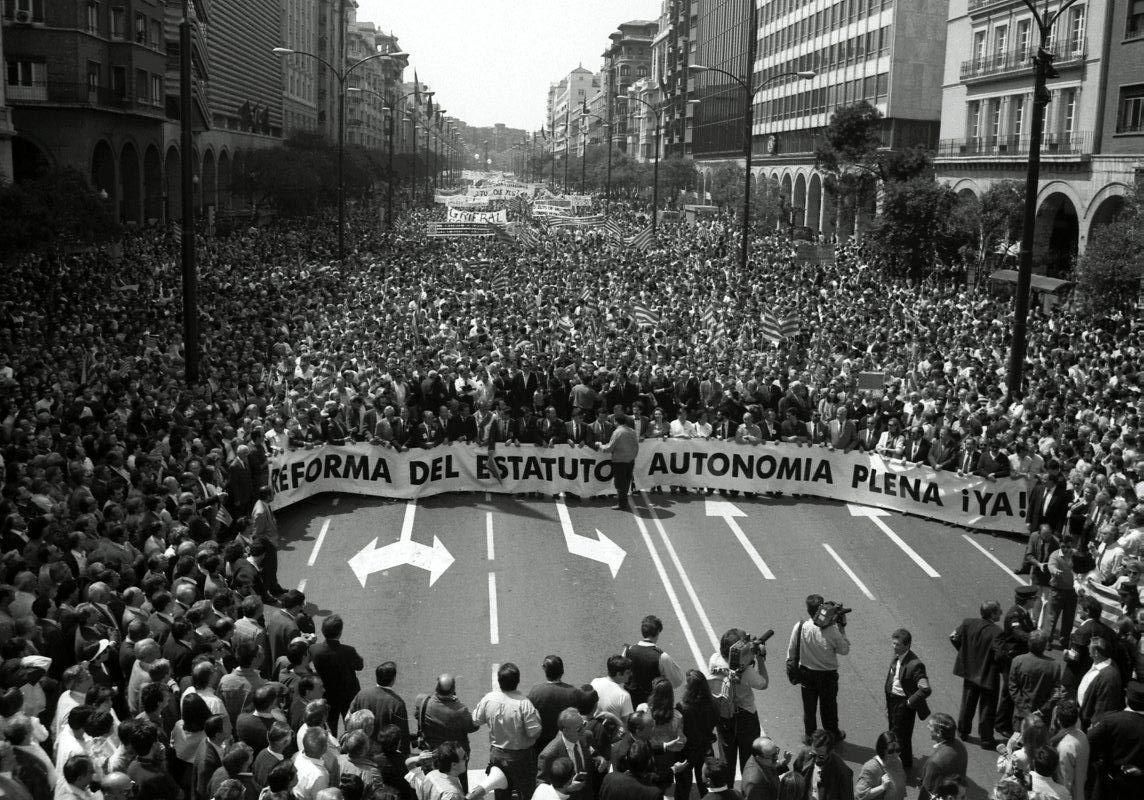
M 607 657 L 638 639 L 646 613 L 664 620 L 660 645 L 684 668 L 705 666 L 729 627 L 773 628 L 771 686 L 756 699 L 763 729 L 788 748 L 802 735 L 799 690 L 782 668 L 791 628 L 805 595 L 842 601 L 853 613 L 840 671 L 841 753 L 856 774 L 885 727 L 890 633 L 913 633 L 934 684 L 930 706 L 956 716 L 961 682 L 948 635 L 985 600 L 1008 608 L 1020 581 L 1006 569 L 1020 542 L 888 512 L 666 490 L 635 500 L 633 512 L 619 512 L 603 498 L 469 493 L 414 507 L 320 496 L 279 514 L 279 578 L 301 586 L 318 615 L 343 616 L 344 641 L 366 660 L 363 684 L 376 664 L 397 663 L 396 689 L 411 713 L 440 672 L 456 674 L 470 708 L 508 660 L 525 690 L 543 681 L 547 654 L 564 658 L 570 683 L 604 675 Z M 928 746 L 919 723 L 914 752 Z M 996 757 L 975 745 L 969 754 L 969 795 L 980 798 Z M 486 758 L 482 731 L 470 767 Z

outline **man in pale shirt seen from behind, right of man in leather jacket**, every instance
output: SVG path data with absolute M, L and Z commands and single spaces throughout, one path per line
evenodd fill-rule
M 518 689 L 521 670 L 508 662 L 496 671 L 498 689 L 480 698 L 472 710 L 472 721 L 488 726 L 488 763 L 500 767 L 508 786 L 495 792 L 496 800 L 508 800 L 514 791 L 531 798 L 537 787 L 537 753 L 532 745 L 540 737 L 540 714 Z

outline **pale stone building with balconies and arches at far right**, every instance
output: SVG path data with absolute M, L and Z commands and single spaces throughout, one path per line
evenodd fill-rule
M 953 0 L 948 43 L 938 177 L 977 197 L 996 181 L 1024 181 L 1030 60 L 1041 45 L 1032 14 L 1017 0 Z M 1144 155 L 1144 2 L 1078 2 L 1047 49 L 1054 58 L 1033 261 L 1066 275 L 1094 228 L 1122 207 Z

